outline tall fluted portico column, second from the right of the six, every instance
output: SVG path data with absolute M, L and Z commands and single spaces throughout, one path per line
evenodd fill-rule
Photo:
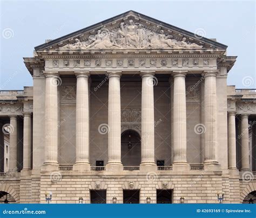
M 173 72 L 173 170 L 189 170 L 186 135 L 186 71 Z

